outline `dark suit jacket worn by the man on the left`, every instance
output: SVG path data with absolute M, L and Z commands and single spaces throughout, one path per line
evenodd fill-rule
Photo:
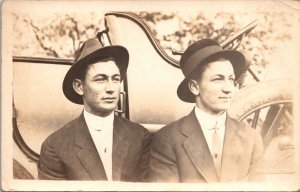
M 151 135 L 141 125 L 115 116 L 114 181 L 143 181 L 148 175 Z M 107 180 L 83 114 L 51 134 L 42 144 L 39 179 Z

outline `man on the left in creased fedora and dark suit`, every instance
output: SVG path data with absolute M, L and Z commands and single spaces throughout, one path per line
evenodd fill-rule
M 129 55 L 122 46 L 87 40 L 63 81 L 67 99 L 82 114 L 42 144 L 39 179 L 143 181 L 150 133 L 114 115 Z

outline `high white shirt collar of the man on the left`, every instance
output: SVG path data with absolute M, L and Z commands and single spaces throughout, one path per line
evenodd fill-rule
M 106 117 L 100 117 L 100 116 L 91 114 L 84 109 L 83 115 L 84 115 L 84 118 L 85 118 L 85 121 L 86 121 L 88 127 L 92 128 L 94 130 L 101 130 L 102 128 L 113 126 L 113 122 L 114 122 L 114 113 L 113 112 Z

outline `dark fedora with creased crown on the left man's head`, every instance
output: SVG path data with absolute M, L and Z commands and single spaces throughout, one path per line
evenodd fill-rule
M 113 58 L 120 69 L 121 80 L 126 75 L 129 54 L 125 47 L 119 45 L 103 46 L 96 38 L 85 41 L 75 56 L 75 61 L 66 73 L 63 81 L 63 92 L 66 98 L 73 103 L 83 104 L 82 96 L 73 89 L 73 80 L 79 78 L 80 71 L 89 64 Z

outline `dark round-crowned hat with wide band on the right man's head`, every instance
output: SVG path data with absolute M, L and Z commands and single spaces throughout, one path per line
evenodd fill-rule
M 221 45 L 212 39 L 202 39 L 190 45 L 182 54 L 180 68 L 184 75 L 184 80 L 177 88 L 178 97 L 185 102 L 194 103 L 195 95 L 188 87 L 192 72 L 199 66 L 208 64 L 212 59 L 228 59 L 238 79 L 244 72 L 245 57 L 235 50 L 224 50 Z

